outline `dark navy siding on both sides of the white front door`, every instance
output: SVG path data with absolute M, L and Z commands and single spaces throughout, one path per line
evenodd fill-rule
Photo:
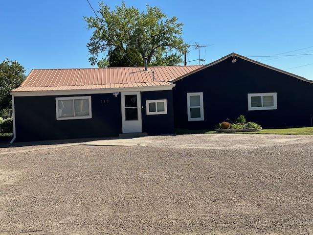
M 56 97 L 91 96 L 92 118 L 57 120 Z M 146 115 L 146 100 L 167 99 L 168 114 Z M 16 96 L 17 141 L 38 141 L 118 136 L 122 133 L 121 95 L 82 94 L 57 96 Z M 141 92 L 142 131 L 149 135 L 174 133 L 173 93 Z

